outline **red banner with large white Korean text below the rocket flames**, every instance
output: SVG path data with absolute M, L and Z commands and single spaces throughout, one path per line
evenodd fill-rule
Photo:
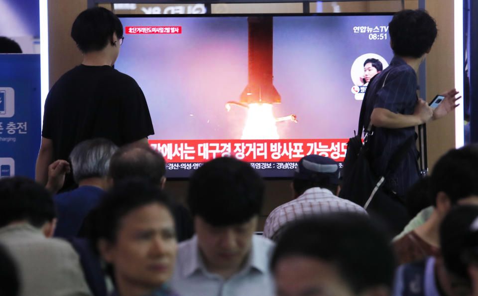
M 205 162 L 231 156 L 249 162 L 299 161 L 319 154 L 344 161 L 349 139 L 295 140 L 149 140 L 167 162 Z

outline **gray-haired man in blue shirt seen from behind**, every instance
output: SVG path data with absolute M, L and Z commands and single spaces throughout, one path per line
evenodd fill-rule
M 54 197 L 58 212 L 55 236 L 66 238 L 78 234 L 88 212 L 110 186 L 110 159 L 117 149 L 112 141 L 102 138 L 83 141 L 73 148 L 70 160 L 78 188 Z M 59 185 L 54 187 L 61 188 L 63 184 Z

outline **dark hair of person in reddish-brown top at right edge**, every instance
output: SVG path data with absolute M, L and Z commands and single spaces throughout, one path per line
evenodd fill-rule
M 478 195 L 478 146 L 452 149 L 435 164 L 431 174 L 430 198 L 436 206 L 437 194 L 445 192 L 452 204 Z

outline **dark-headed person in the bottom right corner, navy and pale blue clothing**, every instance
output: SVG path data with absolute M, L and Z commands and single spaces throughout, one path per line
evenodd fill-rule
M 470 264 L 478 250 L 478 207 L 457 206 L 440 225 L 441 256 L 400 266 L 393 296 L 469 296 Z

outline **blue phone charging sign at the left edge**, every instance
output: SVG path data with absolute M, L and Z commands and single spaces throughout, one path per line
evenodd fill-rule
M 34 178 L 41 141 L 40 55 L 0 54 L 0 69 L 0 178 Z

